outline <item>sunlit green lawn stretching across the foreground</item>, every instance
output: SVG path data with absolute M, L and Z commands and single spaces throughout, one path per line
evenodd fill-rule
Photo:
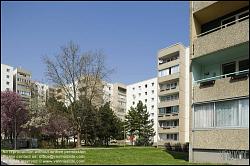
M 14 152 L 14 153 L 13 153 Z M 76 153 L 78 152 L 78 153 Z M 153 147 L 120 147 L 120 148 L 88 148 L 82 150 L 19 150 L 3 151 L 2 154 L 12 158 L 26 160 L 33 164 L 76 164 L 74 156 L 78 156 L 78 164 L 129 164 L 129 165 L 187 165 L 191 164 L 184 153 L 167 153 L 163 149 Z M 32 156 L 33 155 L 33 156 Z M 38 159 L 36 156 L 40 156 Z M 71 157 L 70 157 L 71 156 Z M 41 158 L 44 159 L 41 159 Z M 73 158 L 72 158 L 73 157 Z M 72 159 L 72 160 L 71 160 Z M 42 160 L 47 160 L 42 163 Z M 54 160 L 54 162 L 53 162 Z M 57 160 L 57 161 L 56 161 Z M 62 161 L 62 162 L 60 162 Z M 67 161 L 68 163 L 63 163 Z M 72 161 L 72 162 L 71 162 Z

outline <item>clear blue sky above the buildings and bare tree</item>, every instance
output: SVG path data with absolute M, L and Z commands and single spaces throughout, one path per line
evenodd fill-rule
M 102 49 L 115 69 L 110 82 L 157 76 L 157 51 L 188 46 L 189 6 L 176 2 L 1 2 L 1 63 L 21 66 L 47 82 L 43 55 L 70 40 L 81 51 Z

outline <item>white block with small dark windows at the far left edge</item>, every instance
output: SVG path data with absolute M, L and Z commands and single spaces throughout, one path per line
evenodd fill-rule
M 13 67 L 1 64 L 1 91 L 13 91 Z

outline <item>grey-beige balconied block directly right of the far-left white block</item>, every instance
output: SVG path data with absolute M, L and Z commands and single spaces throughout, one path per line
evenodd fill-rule
M 29 105 L 31 98 L 31 72 L 16 68 L 13 72 L 13 90 L 22 96 L 22 101 Z

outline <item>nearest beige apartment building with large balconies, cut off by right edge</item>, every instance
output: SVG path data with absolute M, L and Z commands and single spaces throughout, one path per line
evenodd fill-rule
M 191 162 L 249 164 L 249 2 L 190 2 Z

